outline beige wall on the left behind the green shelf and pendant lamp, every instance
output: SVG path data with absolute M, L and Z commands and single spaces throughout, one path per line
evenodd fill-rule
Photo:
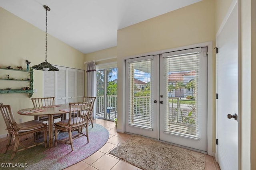
M 31 61 L 30 66 L 44 62 L 45 31 L 14 16 L 3 8 L 0 8 L 0 30 L 0 66 L 2 68 L 23 66 L 26 69 L 25 59 Z M 49 34 L 47 37 L 47 59 L 49 63 L 54 65 L 84 70 L 84 54 Z M 18 72 L 10 71 L 8 74 L 15 76 Z M 4 82 L 1 81 L 0 83 Z M 19 84 L 20 82 L 10 81 L 9 83 Z M 42 97 L 42 71 L 40 70 L 34 70 L 34 88 L 38 89 L 38 92 L 32 97 Z M 23 121 L 33 119 L 32 116 L 17 114 L 19 109 L 33 106 L 31 99 L 26 94 L 0 94 L 0 102 L 11 105 L 17 121 L 18 118 L 22 118 Z M 4 130 L 5 128 L 1 118 L 0 135 L 7 132 Z

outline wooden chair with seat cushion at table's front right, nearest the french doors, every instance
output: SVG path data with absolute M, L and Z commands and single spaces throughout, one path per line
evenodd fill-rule
M 92 103 L 92 100 L 88 102 L 69 103 L 69 118 L 55 123 L 55 146 L 57 146 L 57 142 L 66 143 L 71 145 L 71 149 L 74 150 L 73 140 L 82 136 L 86 136 L 87 143 L 89 142 L 88 120 L 89 113 L 92 109 Z M 86 129 L 85 134 L 82 132 L 84 128 Z M 61 141 L 58 140 L 58 130 L 67 131 L 69 138 Z M 78 130 L 78 133 L 72 135 L 74 130 Z

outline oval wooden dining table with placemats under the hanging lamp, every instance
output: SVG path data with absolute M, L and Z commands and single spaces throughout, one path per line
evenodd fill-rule
M 61 111 L 64 110 L 65 111 Z M 49 147 L 53 147 L 53 135 L 54 135 L 54 115 L 64 114 L 65 119 L 65 113 L 69 113 L 69 104 L 60 104 L 60 105 L 53 105 L 51 106 L 44 106 L 44 107 L 32 107 L 27 109 L 21 109 L 18 111 L 18 114 L 20 115 L 26 115 L 26 116 L 38 116 L 38 115 L 45 115 L 48 116 L 48 135 L 49 135 Z

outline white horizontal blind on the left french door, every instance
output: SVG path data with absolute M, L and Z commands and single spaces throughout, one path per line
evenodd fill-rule
M 150 81 L 153 56 L 129 59 L 128 64 L 128 123 L 129 125 L 152 129 L 152 108 Z

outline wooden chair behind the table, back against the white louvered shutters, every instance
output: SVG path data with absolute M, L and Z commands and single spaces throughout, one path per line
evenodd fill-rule
M 54 98 L 55 97 L 48 97 L 48 98 L 31 98 L 34 107 L 42 107 L 42 106 L 51 106 L 54 105 Z M 60 118 L 63 120 L 63 115 L 54 115 L 53 119 L 58 119 Z M 35 116 L 35 120 L 39 121 L 48 121 L 48 116 Z

